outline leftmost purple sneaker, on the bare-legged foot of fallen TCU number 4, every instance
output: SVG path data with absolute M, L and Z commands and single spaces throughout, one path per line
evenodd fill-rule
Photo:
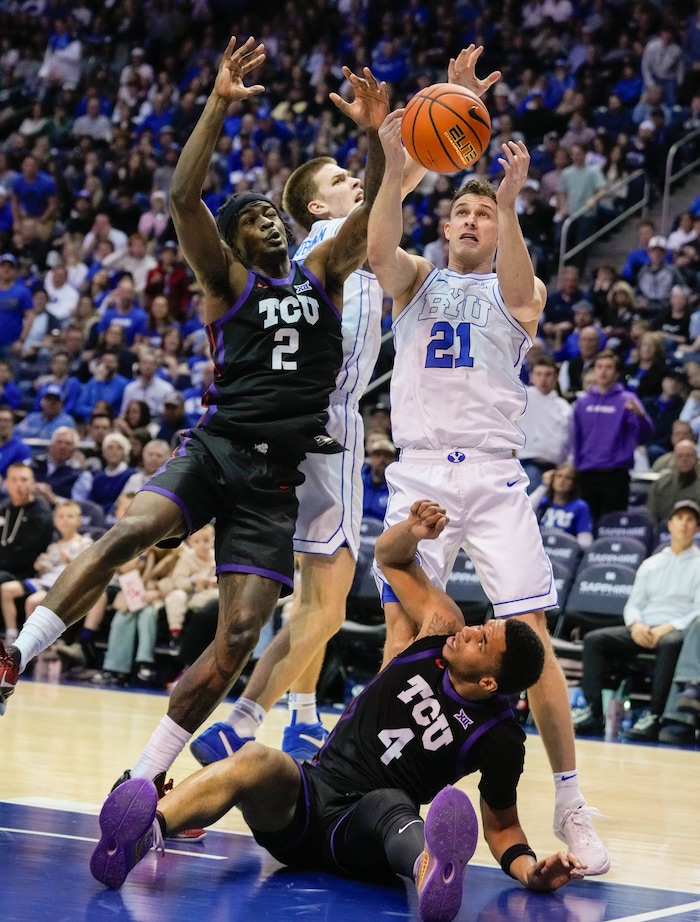
M 149 849 L 165 852 L 157 805 L 158 792 L 148 778 L 130 778 L 112 791 L 100 812 L 102 838 L 90 859 L 96 880 L 118 890 Z

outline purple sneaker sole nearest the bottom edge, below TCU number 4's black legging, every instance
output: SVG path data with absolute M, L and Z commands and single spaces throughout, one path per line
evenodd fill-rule
M 479 835 L 467 795 L 448 785 L 433 800 L 425 818 L 425 851 L 416 877 L 423 922 L 450 922 L 462 905 L 464 869 Z

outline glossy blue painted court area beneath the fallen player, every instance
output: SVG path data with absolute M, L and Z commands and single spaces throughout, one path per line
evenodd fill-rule
M 376 887 L 286 871 L 252 838 L 210 831 L 167 843 L 120 891 L 90 875 L 96 816 L 0 802 L 3 922 L 417 922 L 412 887 Z M 496 868 L 471 866 L 458 922 L 700 922 L 700 897 L 587 880 L 530 893 Z

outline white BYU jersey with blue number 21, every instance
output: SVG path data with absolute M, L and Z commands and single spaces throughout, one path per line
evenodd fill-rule
M 391 423 L 401 448 L 521 449 L 519 372 L 532 345 L 495 273 L 434 269 L 393 324 Z

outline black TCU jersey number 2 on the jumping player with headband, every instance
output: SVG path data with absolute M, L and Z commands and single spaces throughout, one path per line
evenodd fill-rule
M 341 318 L 299 263 L 285 279 L 249 270 L 236 303 L 207 326 L 214 382 L 200 423 L 267 452 L 340 451 L 326 434 L 328 396 L 342 361 Z

